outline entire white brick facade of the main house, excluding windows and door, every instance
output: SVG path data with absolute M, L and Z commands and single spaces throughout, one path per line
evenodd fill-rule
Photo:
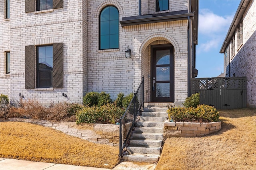
M 155 2 L 155 1 L 154 1 Z M 41 103 L 78 102 L 86 92 L 105 91 L 114 100 L 118 93 L 129 94 L 145 77 L 146 102 L 150 102 L 150 45 L 174 46 L 175 102 L 187 97 L 187 20 L 121 27 L 119 49 L 99 50 L 99 14 L 107 5 L 119 10 L 119 18 L 138 15 L 138 1 L 64 0 L 64 7 L 47 12 L 25 13 L 25 0 L 10 0 L 10 20 L 4 20 L 0 1 L 0 93 L 18 100 Z M 149 12 L 155 5 L 149 1 Z M 188 1 L 170 1 L 170 11 L 187 10 Z M 150 11 L 151 10 L 151 11 Z M 26 45 L 64 43 L 64 88 L 25 89 L 24 49 Z M 131 59 L 124 57 L 129 45 Z M 5 74 L 4 51 L 10 51 L 10 75 Z M 36 52 L 36 51 L 35 51 Z M 128 74 L 130 70 L 132 74 Z M 36 83 L 36 82 L 35 82 Z M 68 98 L 62 97 L 62 92 Z

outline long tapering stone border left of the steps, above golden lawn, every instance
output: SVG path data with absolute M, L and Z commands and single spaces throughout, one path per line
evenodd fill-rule
M 68 135 L 94 143 L 106 144 L 110 146 L 119 146 L 119 125 L 99 123 L 85 123 L 76 125 L 75 122 L 51 122 L 46 120 L 16 118 L 9 118 L 7 120 L 0 119 L 0 121 L 19 121 L 34 123 L 37 125 L 43 125 L 44 127 L 51 127 L 53 129 L 62 131 L 63 133 L 66 133 Z

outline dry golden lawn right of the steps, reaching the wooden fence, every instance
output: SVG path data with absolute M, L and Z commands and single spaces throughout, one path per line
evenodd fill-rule
M 256 170 L 256 109 L 219 112 L 217 133 L 167 139 L 156 170 Z

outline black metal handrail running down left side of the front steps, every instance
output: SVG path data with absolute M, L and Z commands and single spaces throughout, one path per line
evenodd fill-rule
M 122 150 L 128 142 L 136 117 L 138 116 L 141 108 L 144 109 L 144 76 L 142 77 L 140 86 L 134 93 L 130 104 L 124 112 L 124 115 L 119 119 L 119 156 L 122 156 Z

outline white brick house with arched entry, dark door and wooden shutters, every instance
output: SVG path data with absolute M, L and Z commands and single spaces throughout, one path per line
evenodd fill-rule
M 104 91 L 114 100 L 144 76 L 145 102 L 180 104 L 197 75 L 197 37 L 198 0 L 2 0 L 0 94 L 82 103 Z

